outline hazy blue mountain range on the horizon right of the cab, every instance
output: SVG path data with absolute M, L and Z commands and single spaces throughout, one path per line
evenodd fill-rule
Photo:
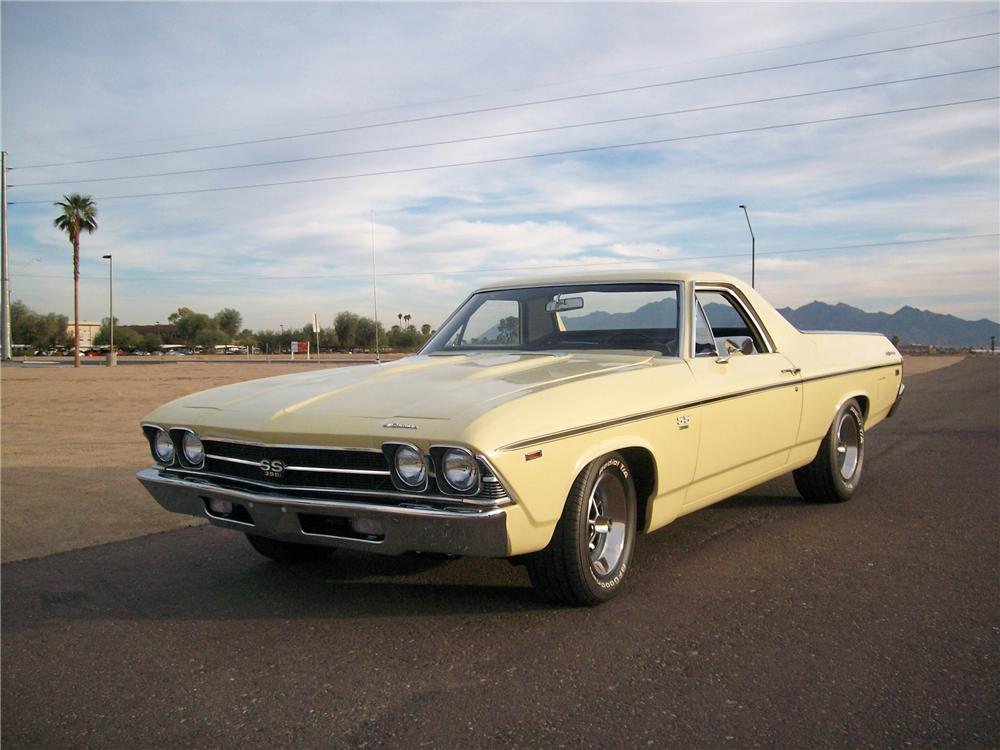
M 903 344 L 930 344 L 948 347 L 988 347 L 990 336 L 1000 340 L 1000 323 L 983 318 L 963 320 L 915 307 L 901 307 L 892 313 L 867 313 L 840 302 L 810 302 L 798 309 L 778 310 L 793 326 L 802 331 L 874 331 Z

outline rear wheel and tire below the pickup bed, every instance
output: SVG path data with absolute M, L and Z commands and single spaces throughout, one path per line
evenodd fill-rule
M 865 462 L 865 417 L 856 399 L 845 402 L 812 463 L 796 469 L 795 487 L 806 500 L 842 503 L 851 499 Z

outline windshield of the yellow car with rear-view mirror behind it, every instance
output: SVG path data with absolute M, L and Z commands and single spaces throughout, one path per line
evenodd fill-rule
M 678 285 L 567 284 L 477 292 L 423 354 L 626 349 L 677 354 Z

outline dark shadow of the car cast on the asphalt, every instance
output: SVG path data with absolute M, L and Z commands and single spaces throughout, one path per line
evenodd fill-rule
M 721 536 L 802 507 L 787 488 L 769 483 L 757 493 L 641 535 L 630 578 L 635 585 L 656 579 L 664 559 L 683 566 L 685 556 Z M 3 576 L 4 628 L 13 630 L 80 619 L 361 619 L 559 608 L 533 591 L 523 567 L 505 560 L 337 550 L 326 561 L 289 565 L 212 526 L 9 563 Z

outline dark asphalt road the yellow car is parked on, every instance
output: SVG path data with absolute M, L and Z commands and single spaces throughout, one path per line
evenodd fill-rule
M 998 364 L 909 379 L 851 502 L 680 519 L 598 608 L 211 527 L 7 564 L 3 747 L 1000 747 Z

